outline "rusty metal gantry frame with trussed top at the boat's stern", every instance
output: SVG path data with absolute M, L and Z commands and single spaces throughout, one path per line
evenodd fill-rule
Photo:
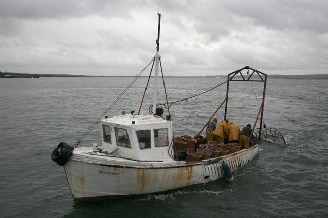
M 242 70 L 245 70 L 247 69 L 248 72 L 249 70 L 252 70 L 253 72 L 249 75 L 249 77 L 247 78 L 247 80 L 245 79 L 245 77 L 243 76 L 242 74 Z M 248 74 L 247 72 L 247 74 Z M 235 76 L 236 75 L 240 75 L 242 77 L 242 79 L 236 79 Z M 259 76 L 259 79 L 255 80 L 253 78 L 253 75 L 258 75 Z M 231 78 L 230 78 L 231 77 Z M 260 112 L 261 112 L 261 118 L 260 118 L 260 130 L 259 130 L 259 140 L 261 140 L 261 130 L 262 130 L 262 123 L 263 123 L 263 110 L 264 110 L 264 100 L 265 100 L 265 89 L 266 89 L 266 81 L 267 81 L 267 74 L 265 73 L 262 73 L 256 69 L 253 69 L 249 66 L 245 66 L 239 70 L 236 70 L 232 73 L 229 73 L 228 74 L 228 80 L 227 80 L 227 96 L 226 98 L 224 99 L 224 101 L 222 102 L 222 104 L 217 108 L 217 110 L 214 112 L 214 114 L 211 116 L 211 118 L 208 120 L 208 122 L 205 124 L 205 126 L 203 127 L 203 129 L 198 133 L 198 134 L 201 134 L 201 132 L 204 130 L 204 128 L 207 126 L 207 124 L 211 121 L 211 119 L 213 118 L 213 116 L 216 114 L 216 112 L 218 111 L 218 109 L 221 108 L 221 106 L 223 105 L 223 103 L 225 102 L 226 105 L 225 105 L 225 112 L 224 112 L 224 120 L 226 120 L 227 118 L 227 108 L 228 108 L 228 96 L 229 96 L 229 84 L 230 84 L 230 81 L 242 81 L 242 82 L 264 82 L 264 87 L 263 87 L 263 98 L 262 98 L 262 103 L 261 103 L 261 106 L 259 108 L 259 112 L 258 112 L 258 115 L 256 117 L 256 121 L 253 125 L 253 129 L 252 129 L 252 133 L 251 135 L 253 135 L 253 132 L 254 132 L 254 129 L 255 129 L 255 126 L 258 122 L 258 118 L 260 116 Z M 249 143 L 250 143 L 250 140 L 251 140 L 251 137 L 249 138 L 248 140 L 248 143 L 247 143 L 247 147 L 249 147 Z

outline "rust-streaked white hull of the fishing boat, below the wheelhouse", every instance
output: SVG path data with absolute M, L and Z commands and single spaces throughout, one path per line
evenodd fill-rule
M 249 149 L 194 163 L 138 162 L 121 158 L 74 154 L 64 165 L 75 201 L 111 199 L 173 190 L 207 183 L 224 176 L 225 161 L 232 172 L 252 160 L 260 144 Z

